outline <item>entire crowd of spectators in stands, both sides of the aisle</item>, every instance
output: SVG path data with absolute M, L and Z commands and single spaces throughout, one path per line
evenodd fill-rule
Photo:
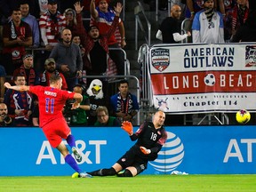
M 168 1 L 159 1 L 159 9 L 166 11 Z M 163 20 L 156 34 L 163 43 L 179 43 L 189 36 L 191 43 L 255 42 L 254 0 L 172 2 L 171 17 Z M 156 2 L 144 3 L 152 8 Z M 63 110 L 68 124 L 132 121 L 139 105 L 129 92 L 128 81 L 120 81 L 117 93 L 109 95 L 106 78 L 84 77 L 124 75 L 124 52 L 109 49 L 126 45 L 124 23 L 119 18 L 123 6 L 110 4 L 110 0 L 0 0 L 0 102 L 7 107 L 1 115 L 3 124 L 38 126 L 40 113 L 35 95 L 5 90 L 4 81 L 46 86 L 52 74 L 62 77 L 62 89 L 84 95 L 79 109 L 70 111 L 67 103 Z M 179 4 L 186 9 L 184 15 Z M 184 34 L 180 33 L 180 18 L 191 21 Z

